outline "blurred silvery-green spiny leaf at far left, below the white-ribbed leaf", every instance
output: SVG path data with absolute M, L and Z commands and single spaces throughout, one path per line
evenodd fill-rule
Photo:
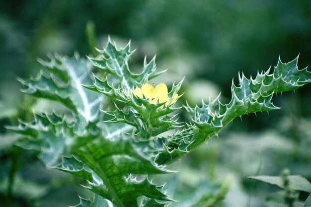
M 19 140 L 17 145 L 40 151 L 39 158 L 45 165 L 54 166 L 60 161 L 69 144 L 73 144 L 74 125 L 55 113 L 35 113 L 34 118 L 31 123 L 20 121 L 18 127 L 8 129 L 28 137 Z

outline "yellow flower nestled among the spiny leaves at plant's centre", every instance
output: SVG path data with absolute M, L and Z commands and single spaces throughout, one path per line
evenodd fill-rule
M 167 86 L 164 83 L 157 84 L 156 87 L 149 83 L 144 84 L 142 88 L 136 87 L 135 95 L 140 98 L 148 98 L 149 103 L 155 104 L 157 102 L 165 102 L 165 106 L 175 103 L 178 98 L 178 93 L 176 93 L 172 100 L 169 100 Z M 161 108 L 163 108 L 163 106 L 164 105 L 162 105 Z

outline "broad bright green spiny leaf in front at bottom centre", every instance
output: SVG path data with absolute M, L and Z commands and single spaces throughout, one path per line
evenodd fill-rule
M 118 207 L 135 207 L 137 198 L 142 195 L 169 201 L 161 193 L 160 187 L 152 184 L 147 177 L 141 180 L 140 176 L 136 176 L 167 172 L 156 167 L 151 158 L 140 153 L 138 147 L 134 147 L 135 143 L 131 142 L 131 139 L 122 137 L 115 137 L 114 140 L 98 138 L 78 149 L 76 153 L 102 179 L 109 194 L 107 199 Z M 98 186 L 95 190 L 98 190 Z

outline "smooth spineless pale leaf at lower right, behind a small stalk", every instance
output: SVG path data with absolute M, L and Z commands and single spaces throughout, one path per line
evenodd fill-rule
M 283 180 L 280 176 L 251 176 L 251 179 L 260 180 L 265 183 L 270 183 L 272 185 L 277 185 L 280 188 L 284 188 Z M 305 191 L 311 193 L 311 183 L 304 177 L 300 175 L 289 175 L 289 188 L 296 191 Z

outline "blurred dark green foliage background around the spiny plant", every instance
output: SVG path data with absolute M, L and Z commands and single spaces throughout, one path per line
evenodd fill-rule
M 16 77 L 36 75 L 37 58 L 94 54 L 93 46 L 104 47 L 110 35 L 120 46 L 132 41 L 134 71 L 145 55 L 151 60 L 156 54 L 158 69 L 168 69 L 156 82 L 171 85 L 185 77 L 180 104 L 200 105 L 221 91 L 228 102 L 239 71 L 255 76 L 273 68 L 279 56 L 289 62 L 299 54 L 299 68 L 310 65 L 310 11 L 310 0 L 0 0 L 0 200 L 12 172 L 11 206 L 65 207 L 78 204 L 77 192 L 84 194 L 76 178 L 45 169 L 35 152 L 14 146 L 3 127 L 51 107 L 19 92 Z M 275 96 L 281 110 L 235 120 L 181 161 L 184 188 L 202 180 L 223 183 L 230 175 L 224 206 L 259 207 L 278 189 L 248 176 L 289 168 L 310 180 L 310 102 L 307 85 Z

